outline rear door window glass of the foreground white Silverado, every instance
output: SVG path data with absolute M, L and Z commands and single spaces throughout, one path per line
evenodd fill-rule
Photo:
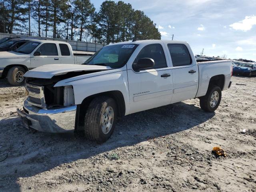
M 188 48 L 184 44 L 167 44 L 172 58 L 172 66 L 188 66 L 192 64 L 192 58 Z

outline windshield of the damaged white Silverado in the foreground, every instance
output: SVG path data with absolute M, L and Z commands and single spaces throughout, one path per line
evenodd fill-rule
M 121 68 L 129 60 L 137 46 L 137 44 L 118 44 L 105 46 L 96 52 L 84 64 Z

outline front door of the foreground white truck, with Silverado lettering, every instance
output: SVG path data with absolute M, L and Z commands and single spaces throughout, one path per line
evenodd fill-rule
M 172 71 L 167 65 L 161 44 L 144 46 L 134 60 L 152 58 L 155 66 L 150 69 L 128 70 L 130 113 L 170 104 L 172 99 Z

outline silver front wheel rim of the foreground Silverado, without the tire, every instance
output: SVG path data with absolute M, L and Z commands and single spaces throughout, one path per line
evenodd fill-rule
M 111 106 L 108 106 L 105 109 L 104 114 L 102 116 L 102 120 L 101 120 L 101 128 L 104 134 L 108 134 L 110 132 L 113 126 L 113 122 L 114 122 L 114 110 Z

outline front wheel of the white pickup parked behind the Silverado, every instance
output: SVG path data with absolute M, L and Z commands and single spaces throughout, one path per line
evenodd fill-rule
M 24 74 L 26 70 L 23 67 L 15 66 L 9 69 L 7 73 L 7 80 L 11 85 L 22 85 L 24 84 Z

